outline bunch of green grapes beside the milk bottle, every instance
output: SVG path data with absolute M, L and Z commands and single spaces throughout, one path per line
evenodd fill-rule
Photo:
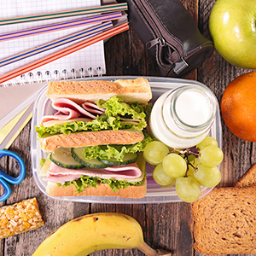
M 224 154 L 213 137 L 197 144 L 195 152 L 189 148 L 168 148 L 164 143 L 153 141 L 147 144 L 143 157 L 154 166 L 154 181 L 161 186 L 175 184 L 177 196 L 185 202 L 196 201 L 201 195 L 201 186 L 212 188 L 221 180 L 218 165 Z

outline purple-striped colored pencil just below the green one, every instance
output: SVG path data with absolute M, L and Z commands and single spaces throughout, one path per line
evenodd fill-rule
M 117 12 L 117 13 L 111 13 L 108 15 L 96 15 L 93 17 L 90 16 L 84 19 L 65 21 L 65 22 L 55 23 L 47 26 L 38 26 L 35 28 L 30 28 L 30 29 L 26 29 L 18 32 L 3 33 L 3 34 L 0 34 L 0 42 L 11 40 L 11 39 L 30 37 L 38 34 L 43 34 L 45 32 L 55 32 L 55 31 L 59 31 L 67 28 L 73 28 L 77 26 L 91 25 L 91 24 L 100 23 L 103 21 L 108 21 L 108 20 L 118 20 L 121 17 L 122 17 L 121 12 Z

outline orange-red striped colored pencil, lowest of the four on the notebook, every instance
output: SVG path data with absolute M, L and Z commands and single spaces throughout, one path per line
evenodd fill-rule
M 97 42 L 100 42 L 104 39 L 113 37 L 114 35 L 117 35 L 120 32 L 125 32 L 128 29 L 129 29 L 129 25 L 127 22 L 125 22 L 122 25 L 114 26 L 113 28 L 110 28 L 104 32 L 99 33 L 99 34 L 96 34 L 95 36 L 92 36 L 90 38 L 86 38 L 83 41 L 73 44 L 70 47 L 56 51 L 55 53 L 53 53 L 51 55 L 47 55 L 44 58 L 41 58 L 37 61 L 32 61 L 31 63 L 29 63 L 23 67 L 19 67 L 9 73 L 5 73 L 2 76 L 0 76 L 0 84 L 3 84 L 4 82 L 8 81 L 9 79 L 15 79 L 16 77 L 18 77 L 24 73 L 30 72 L 35 68 L 42 67 L 45 64 L 48 64 L 49 62 L 58 60 L 61 57 L 70 55 L 79 49 L 83 49 L 87 46 L 90 46 L 91 44 L 96 44 Z

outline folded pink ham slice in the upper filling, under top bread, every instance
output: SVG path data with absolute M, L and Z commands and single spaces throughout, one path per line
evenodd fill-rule
M 41 121 L 42 124 L 53 119 L 69 120 L 76 119 L 81 116 L 96 119 L 96 115 L 90 113 L 86 109 L 79 106 L 79 104 L 69 99 L 56 99 L 54 102 L 52 102 L 52 108 L 57 110 L 57 113 L 55 113 L 55 115 L 45 115 Z

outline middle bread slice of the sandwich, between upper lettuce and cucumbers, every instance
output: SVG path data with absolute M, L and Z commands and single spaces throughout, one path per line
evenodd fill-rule
M 108 144 L 133 144 L 143 140 L 143 131 L 106 130 L 81 131 L 40 137 L 40 148 L 44 152 L 54 152 L 57 148 L 79 148 Z

